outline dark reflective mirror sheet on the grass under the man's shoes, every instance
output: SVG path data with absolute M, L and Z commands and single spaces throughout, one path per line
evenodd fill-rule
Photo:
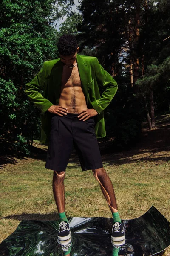
M 71 238 L 57 238 L 59 221 L 23 220 L 0 244 L 0 256 L 151 256 L 170 245 L 170 223 L 155 208 L 122 220 L 125 241 L 111 240 L 111 218 L 69 218 Z

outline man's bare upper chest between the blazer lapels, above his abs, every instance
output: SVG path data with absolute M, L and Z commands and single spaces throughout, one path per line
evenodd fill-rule
M 81 87 L 78 67 L 76 66 L 73 69 L 69 69 L 64 66 L 63 72 L 62 72 L 62 87 L 74 87 L 74 86 Z

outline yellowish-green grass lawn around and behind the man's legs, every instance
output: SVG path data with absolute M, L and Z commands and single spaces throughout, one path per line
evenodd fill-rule
M 156 128 L 143 126 L 143 138 L 130 150 L 102 154 L 103 165 L 113 182 L 122 219 L 139 217 L 154 205 L 170 221 L 170 115 L 156 118 Z M 111 142 L 99 143 L 102 148 Z M 42 154 L 15 159 L 0 169 L 0 242 L 21 220 L 58 218 L 52 192 L 53 172 L 45 169 Z M 110 217 L 111 212 L 91 171 L 82 172 L 71 155 L 65 177 L 65 211 L 68 217 Z M 170 248 L 159 256 L 170 256 Z

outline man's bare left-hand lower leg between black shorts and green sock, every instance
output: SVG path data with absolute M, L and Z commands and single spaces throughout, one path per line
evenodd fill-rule
M 65 212 L 65 191 L 64 191 L 65 172 L 54 171 L 53 174 L 53 193 L 59 213 Z

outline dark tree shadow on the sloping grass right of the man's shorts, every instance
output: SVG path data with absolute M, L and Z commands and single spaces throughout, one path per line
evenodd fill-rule
M 106 145 L 108 154 L 102 154 L 102 160 L 108 166 L 134 163 L 137 161 L 170 161 L 170 125 L 157 125 L 155 129 L 143 131 L 142 140 L 129 150 L 114 151 L 112 145 Z M 102 148 L 104 151 L 104 148 Z

